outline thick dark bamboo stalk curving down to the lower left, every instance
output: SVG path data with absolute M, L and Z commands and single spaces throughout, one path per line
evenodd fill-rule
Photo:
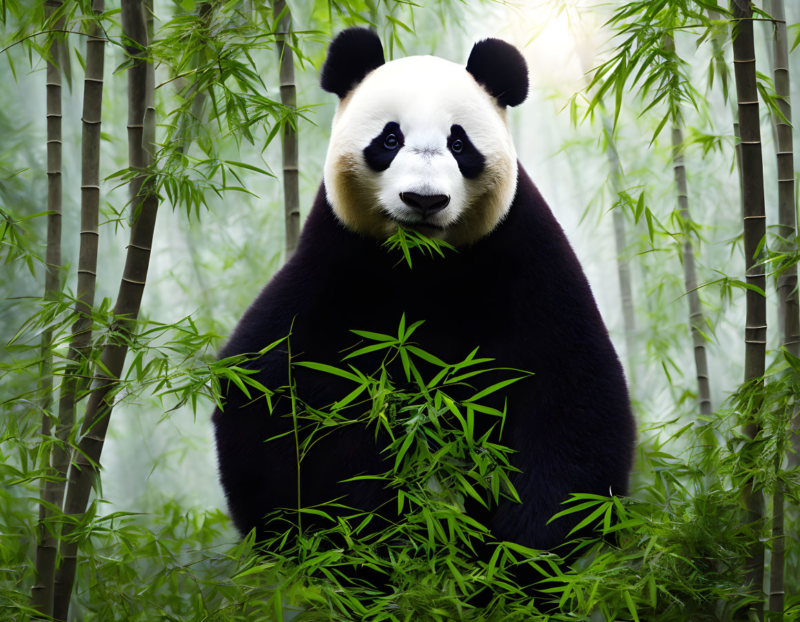
M 63 528 L 63 563 L 56 573 L 56 596 L 69 608 L 77 565 L 78 540 L 74 528 L 86 512 L 86 503 L 97 480 L 102 446 L 114 408 L 114 389 L 125 365 L 128 341 L 135 329 L 150 263 L 158 195 L 150 175 L 155 137 L 153 66 L 147 62 L 147 26 L 141 0 L 122 0 L 122 31 L 130 45 L 127 53 L 138 58 L 128 70 L 128 157 L 139 174 L 130 182 L 131 230 L 125 268 L 119 285 L 114 317 L 118 337 L 103 348 L 95 371 L 98 383 L 86 405 L 78 451 L 70 466 Z M 66 619 L 66 616 L 62 619 Z

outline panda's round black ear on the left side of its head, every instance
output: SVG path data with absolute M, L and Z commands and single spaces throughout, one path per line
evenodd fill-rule
M 378 35 L 366 28 L 348 28 L 331 42 L 319 84 L 342 99 L 366 74 L 383 63 L 383 46 Z

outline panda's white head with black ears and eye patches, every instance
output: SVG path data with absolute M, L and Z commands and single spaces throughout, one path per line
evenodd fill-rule
M 506 106 L 528 93 L 514 46 L 478 42 L 466 67 L 385 63 L 378 36 L 351 28 L 331 43 L 320 82 L 339 98 L 324 181 L 346 227 L 386 239 L 404 226 L 468 245 L 506 216 L 517 187 Z

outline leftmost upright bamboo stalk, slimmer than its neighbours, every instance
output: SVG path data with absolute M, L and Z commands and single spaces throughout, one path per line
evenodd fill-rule
M 45 0 L 46 22 L 50 21 L 54 12 L 62 5 L 60 0 Z M 63 23 L 58 21 L 55 28 L 63 30 Z M 47 249 L 45 271 L 45 298 L 53 300 L 60 291 L 59 271 L 61 269 L 61 228 L 62 228 L 62 135 L 61 135 L 61 60 L 58 51 L 60 46 L 51 42 L 46 70 L 46 115 L 47 115 Z M 46 445 L 45 461 L 50 466 L 50 440 L 52 426 L 50 409 L 53 403 L 53 332 L 42 333 L 42 364 L 40 370 L 41 409 L 42 409 L 42 443 Z M 53 615 L 53 580 L 56 556 L 58 555 L 58 538 L 53 524 L 48 523 L 52 515 L 50 506 L 60 505 L 61 500 L 55 495 L 50 482 L 40 480 L 39 523 L 36 545 L 36 580 L 30 590 L 31 606 L 44 616 Z

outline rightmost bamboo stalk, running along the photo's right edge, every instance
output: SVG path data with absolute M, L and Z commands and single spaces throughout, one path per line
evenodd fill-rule
M 778 159 L 778 250 L 792 253 L 797 249 L 794 235 L 797 217 L 794 205 L 794 149 L 792 146 L 789 47 L 786 39 L 786 10 L 783 0 L 772 0 L 770 14 L 774 18 L 773 30 L 773 73 L 775 94 L 778 96 L 778 109 L 784 118 L 773 115 L 775 154 Z M 782 318 L 782 345 L 795 357 L 800 357 L 800 302 L 798 302 L 798 268 L 790 265 L 778 276 L 778 317 Z M 790 444 L 794 452 L 787 454 L 790 468 L 798 465 L 800 451 L 800 414 L 795 409 L 792 421 Z M 784 486 L 781 479 L 783 452 L 778 452 L 775 460 L 777 478 L 772 497 L 772 559 L 770 561 L 770 620 L 783 620 L 785 606 L 785 557 L 786 540 L 784 533 Z

